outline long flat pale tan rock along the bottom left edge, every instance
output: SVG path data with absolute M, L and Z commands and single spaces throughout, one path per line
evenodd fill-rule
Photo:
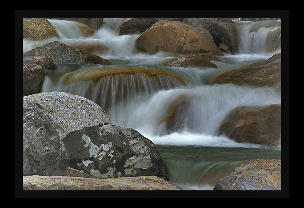
M 157 176 L 93 179 L 82 177 L 23 176 L 23 190 L 159 190 L 178 191 L 177 187 Z

